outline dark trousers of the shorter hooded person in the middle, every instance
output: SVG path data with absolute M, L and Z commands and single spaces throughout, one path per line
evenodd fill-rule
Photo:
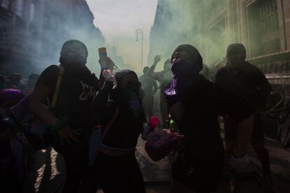
M 135 155 L 109 157 L 99 152 L 97 169 L 105 193 L 145 193 L 145 185 Z

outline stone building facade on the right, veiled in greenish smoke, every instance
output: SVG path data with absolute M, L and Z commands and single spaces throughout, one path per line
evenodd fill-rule
M 282 76 L 277 74 L 290 73 L 289 0 L 181 0 L 176 4 L 158 1 L 149 59 L 159 52 L 169 56 L 174 46 L 186 42 L 200 50 L 205 64 L 214 66 L 230 43 L 243 43 L 249 62 L 271 81 L 286 81 L 278 80 Z

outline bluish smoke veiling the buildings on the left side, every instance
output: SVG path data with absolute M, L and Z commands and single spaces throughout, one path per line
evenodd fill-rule
M 18 5 L 14 4 L 18 1 L 11 2 Z M 85 43 L 88 66 L 99 73 L 97 48 L 104 46 L 104 37 L 92 23 L 94 16 L 86 1 L 40 0 L 32 4 L 19 7 L 23 8 L 21 16 L 15 11 L 15 34 L 8 49 L 13 55 L 1 61 L 0 73 L 20 72 L 24 78 L 41 73 L 50 64 L 59 64 L 62 44 L 69 39 Z

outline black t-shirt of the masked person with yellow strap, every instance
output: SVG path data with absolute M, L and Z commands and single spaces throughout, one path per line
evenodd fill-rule
M 50 101 L 53 99 L 58 74 L 58 66 L 48 66 L 37 82 L 53 90 L 49 96 Z M 90 127 L 90 105 L 97 93 L 97 78 L 89 71 L 87 77 L 83 80 L 84 78 L 81 78 L 78 73 L 64 68 L 60 92 L 53 112 L 58 118 L 66 118 L 72 129 Z

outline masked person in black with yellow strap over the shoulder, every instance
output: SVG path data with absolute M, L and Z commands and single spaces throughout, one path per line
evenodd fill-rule
M 91 101 L 98 90 L 98 79 L 85 66 L 87 57 L 84 43 L 66 41 L 60 53 L 60 66 L 48 66 L 41 73 L 29 101 L 32 113 L 50 126 L 53 148 L 64 157 L 67 178 L 62 192 L 78 192 L 87 177 L 85 136 L 91 127 Z M 62 79 L 52 112 L 46 108 L 46 99 L 51 103 L 59 76 Z

